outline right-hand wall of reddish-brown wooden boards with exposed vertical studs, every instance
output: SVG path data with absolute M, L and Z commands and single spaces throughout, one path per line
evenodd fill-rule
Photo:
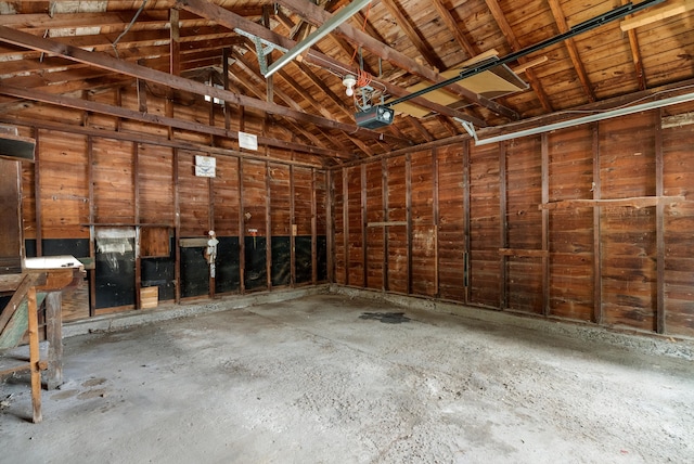
M 335 168 L 335 281 L 693 336 L 693 109 Z

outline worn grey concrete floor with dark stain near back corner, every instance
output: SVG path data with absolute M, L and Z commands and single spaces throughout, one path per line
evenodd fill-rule
M 0 462 L 694 462 L 692 360 L 584 336 L 312 295 L 64 343 Z

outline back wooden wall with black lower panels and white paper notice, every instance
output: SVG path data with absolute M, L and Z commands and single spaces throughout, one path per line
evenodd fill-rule
M 141 103 L 132 88 L 92 99 Z M 149 94 L 146 105 L 150 113 L 280 137 L 250 112 L 226 117 L 223 107 L 194 103 Z M 327 280 L 320 158 L 243 151 L 227 139 L 68 108 L 39 105 L 25 116 L 16 125 L 37 141 L 36 163 L 23 165 L 27 253 L 91 262 L 88 284 L 64 298 L 67 320 L 140 308 L 147 286 L 158 287 L 159 300 L 178 302 Z M 214 178 L 195 176 L 196 156 L 216 159 Z M 220 241 L 214 281 L 202 246 L 209 230 Z M 114 252 L 113 241 L 123 248 Z

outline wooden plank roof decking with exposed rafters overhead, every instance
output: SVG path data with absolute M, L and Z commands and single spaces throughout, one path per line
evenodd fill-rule
M 376 90 L 401 96 L 408 87 L 440 80 L 439 73 L 476 55 L 496 51 L 506 56 L 626 0 L 374 0 L 271 79 L 260 70 L 254 41 L 237 33 L 267 25 L 268 37 L 293 44 L 347 3 L 0 2 L 0 108 L 8 121 L 35 104 L 61 105 L 60 95 L 89 99 L 99 89 L 134 86 L 136 78 L 156 94 L 192 92 L 190 99 L 205 104 L 200 87 L 150 70 L 201 82 L 220 76 L 227 49 L 229 91 L 237 95 L 224 93 L 231 109 L 243 105 L 272 115 L 272 124 L 294 134 L 295 150 L 322 151 L 332 164 L 464 134 L 455 115 L 477 128 L 493 128 L 694 78 L 694 0 L 668 0 L 637 13 L 652 18 L 638 27 L 621 30 L 622 20 L 614 21 L 510 63 L 522 69 L 547 57 L 518 70 L 529 85 L 525 91 L 491 100 L 454 85 L 448 90 L 460 96 L 453 105 L 458 109 L 432 106 L 420 118 L 398 114 L 393 126 L 369 131 L 356 126 L 355 105 L 342 83 L 357 67 L 374 75 Z M 659 11 L 667 14 L 656 15 Z M 171 14 L 179 15 L 178 40 L 171 39 L 177 33 Z M 77 60 L 70 47 L 87 54 Z M 107 55 L 108 66 L 97 54 Z M 271 59 L 280 55 L 275 50 Z M 75 103 L 70 106 L 79 106 Z

